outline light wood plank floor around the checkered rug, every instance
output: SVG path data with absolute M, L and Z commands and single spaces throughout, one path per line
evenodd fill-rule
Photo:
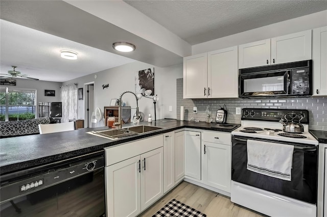
M 181 182 L 170 193 L 162 197 L 159 201 L 141 213 L 139 216 L 152 216 L 159 209 L 164 207 L 172 199 L 176 199 L 192 208 L 195 208 L 207 217 L 260 217 L 265 216 L 247 208 L 233 204 L 229 197 L 210 191 L 203 187 Z

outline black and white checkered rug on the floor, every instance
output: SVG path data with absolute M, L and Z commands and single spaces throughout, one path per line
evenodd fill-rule
M 199 216 L 206 217 L 206 214 L 185 205 L 178 200 L 171 200 L 168 204 L 162 207 L 157 213 L 152 215 L 152 217 L 162 217 L 162 216 Z

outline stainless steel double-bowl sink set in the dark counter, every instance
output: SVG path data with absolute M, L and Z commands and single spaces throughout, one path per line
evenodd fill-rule
M 99 137 L 104 137 L 111 140 L 116 140 L 124 137 L 129 137 L 131 135 L 138 135 L 145 132 L 155 131 L 163 129 L 164 127 L 155 127 L 147 125 L 131 126 L 128 128 L 114 128 L 114 129 L 102 129 L 87 132 L 92 135 L 98 135 Z

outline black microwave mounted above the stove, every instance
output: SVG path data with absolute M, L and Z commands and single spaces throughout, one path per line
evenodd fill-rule
M 239 69 L 240 98 L 312 95 L 312 60 Z

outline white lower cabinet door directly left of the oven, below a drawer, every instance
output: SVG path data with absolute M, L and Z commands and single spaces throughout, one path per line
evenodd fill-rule
M 205 184 L 230 193 L 230 146 L 203 143 L 203 181 Z

